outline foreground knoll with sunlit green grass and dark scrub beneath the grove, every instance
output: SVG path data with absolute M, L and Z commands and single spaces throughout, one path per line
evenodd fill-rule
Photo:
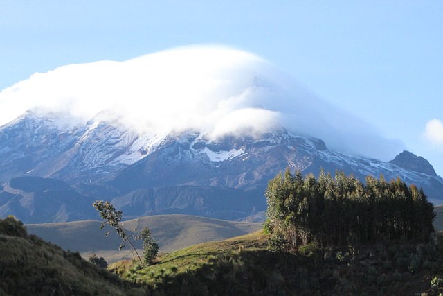
M 439 295 L 443 247 L 406 242 L 266 249 L 263 232 L 165 254 L 144 267 L 120 261 L 109 269 L 145 283 L 156 295 Z

